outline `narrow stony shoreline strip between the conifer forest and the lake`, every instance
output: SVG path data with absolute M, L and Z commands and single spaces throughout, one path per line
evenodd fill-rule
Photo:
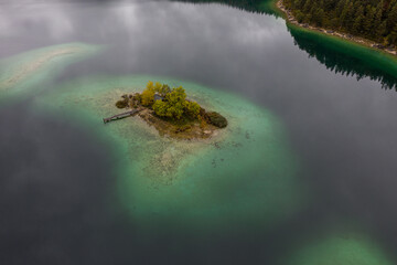
M 373 50 L 378 51 L 378 52 L 384 52 L 386 54 L 397 56 L 397 49 L 384 47 L 383 44 L 371 41 L 371 40 L 367 40 L 365 38 L 355 36 L 355 35 L 348 34 L 348 33 L 343 33 L 343 32 L 339 32 L 339 31 L 335 31 L 335 30 L 331 30 L 331 29 L 313 26 L 313 25 L 310 25 L 308 23 L 299 23 L 297 21 L 297 19 L 293 17 L 292 12 L 290 10 L 288 10 L 283 6 L 282 0 L 277 0 L 275 6 L 276 6 L 276 8 L 278 10 L 280 10 L 285 14 L 283 18 L 286 19 L 286 21 L 288 23 L 291 23 L 293 25 L 297 25 L 297 26 L 300 26 L 300 28 L 303 28 L 303 29 L 307 29 L 307 30 L 323 33 L 325 35 L 336 36 L 339 39 L 342 39 L 342 40 L 345 40 L 345 41 L 348 41 L 348 42 L 353 42 L 355 44 L 363 45 L 365 47 L 369 47 L 369 49 L 373 49 Z

